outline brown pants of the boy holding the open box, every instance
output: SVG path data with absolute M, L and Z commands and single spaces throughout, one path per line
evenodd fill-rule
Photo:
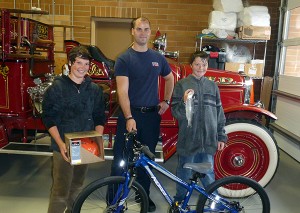
M 87 173 L 87 165 L 72 166 L 60 152 L 53 152 L 52 178 L 48 213 L 71 212 Z

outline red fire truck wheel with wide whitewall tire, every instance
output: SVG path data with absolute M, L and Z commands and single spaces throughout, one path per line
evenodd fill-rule
M 279 163 L 278 146 L 272 133 L 262 124 L 229 120 L 225 126 L 228 142 L 215 155 L 216 179 L 241 175 L 266 186 Z

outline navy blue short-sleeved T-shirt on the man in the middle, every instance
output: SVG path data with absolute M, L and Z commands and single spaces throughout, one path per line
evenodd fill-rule
M 152 49 L 137 52 L 129 48 L 115 63 L 115 76 L 129 78 L 130 105 L 135 107 L 158 105 L 158 77 L 170 72 L 165 57 Z

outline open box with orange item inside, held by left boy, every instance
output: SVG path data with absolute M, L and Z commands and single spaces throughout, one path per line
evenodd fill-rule
M 104 161 L 102 135 L 96 131 L 66 133 L 65 142 L 72 165 Z

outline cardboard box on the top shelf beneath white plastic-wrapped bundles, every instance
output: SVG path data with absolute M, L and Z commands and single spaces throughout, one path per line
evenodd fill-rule
M 271 27 L 241 26 L 238 35 L 240 39 L 270 40 Z

